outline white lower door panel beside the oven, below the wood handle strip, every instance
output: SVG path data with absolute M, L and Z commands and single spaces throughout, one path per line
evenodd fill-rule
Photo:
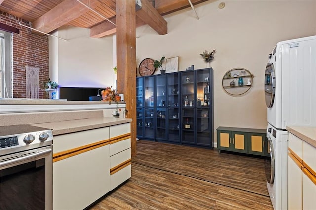
M 80 210 L 110 191 L 110 146 L 53 163 L 53 209 Z

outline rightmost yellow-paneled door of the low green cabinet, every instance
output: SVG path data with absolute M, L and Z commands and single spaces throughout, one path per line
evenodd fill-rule
M 249 154 L 265 155 L 265 134 L 248 133 Z

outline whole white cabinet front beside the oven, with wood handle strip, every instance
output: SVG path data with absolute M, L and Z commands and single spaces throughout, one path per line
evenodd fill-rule
M 110 191 L 109 131 L 54 136 L 53 209 L 84 209 Z

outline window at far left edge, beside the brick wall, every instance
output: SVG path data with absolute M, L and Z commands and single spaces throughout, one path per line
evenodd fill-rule
M 0 98 L 12 98 L 12 33 L 0 30 Z

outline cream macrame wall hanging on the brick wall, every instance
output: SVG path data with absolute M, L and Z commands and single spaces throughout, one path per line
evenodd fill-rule
M 25 66 L 26 71 L 26 98 L 39 98 L 39 67 Z

